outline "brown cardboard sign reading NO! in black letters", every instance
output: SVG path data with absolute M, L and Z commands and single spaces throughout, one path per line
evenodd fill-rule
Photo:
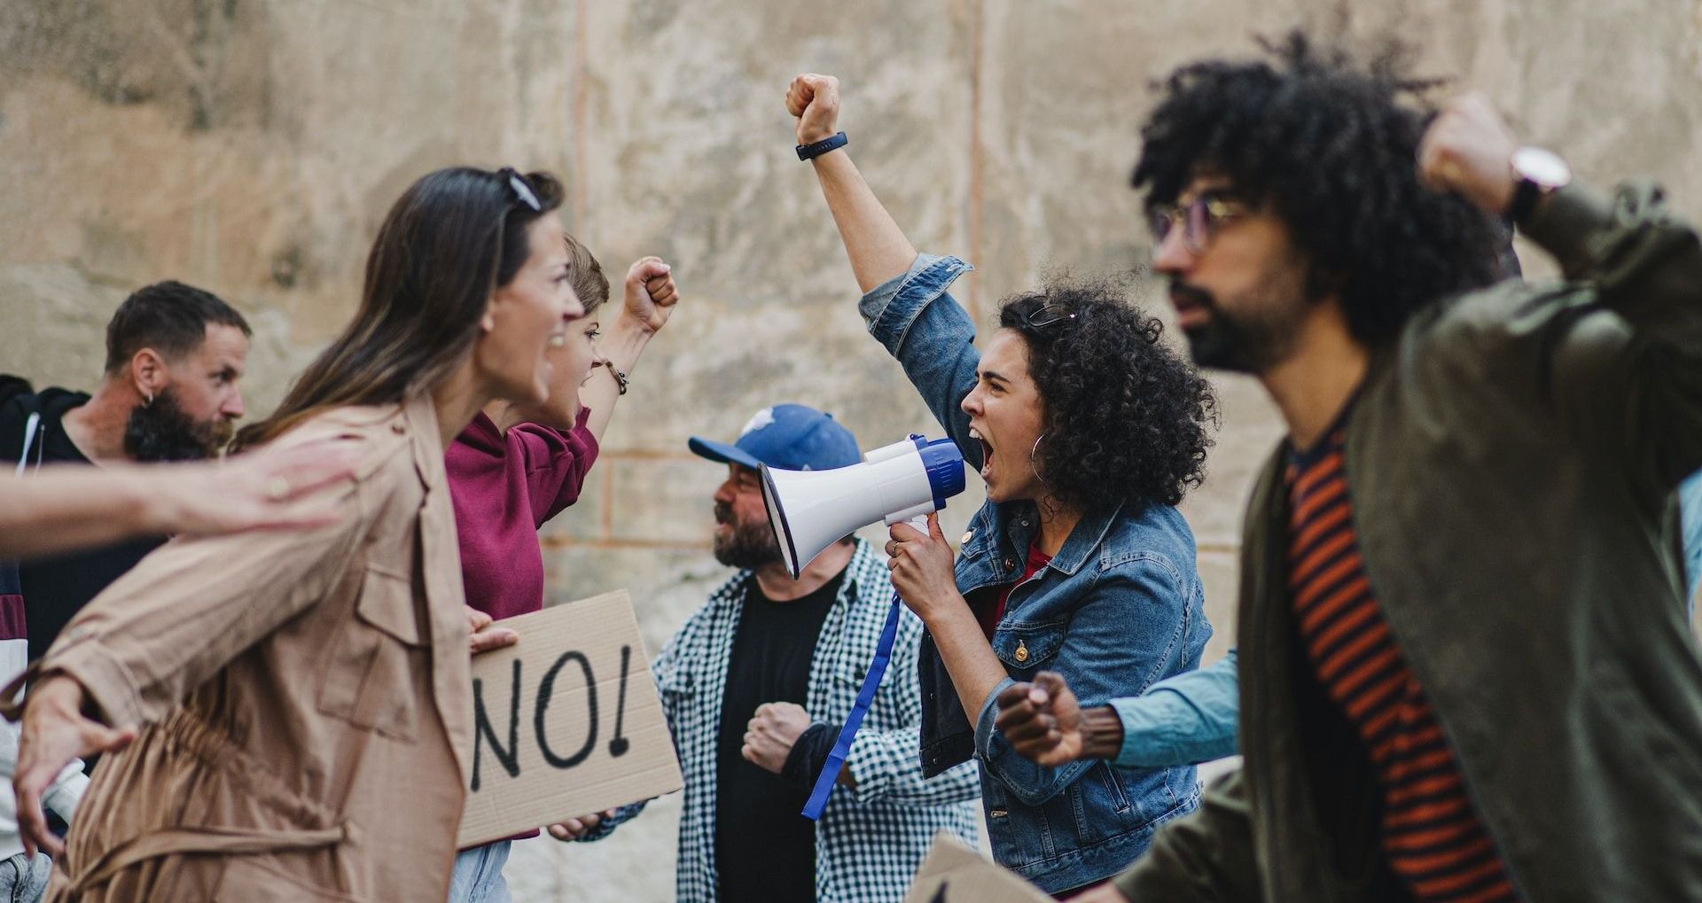
M 473 781 L 460 847 L 684 786 L 625 590 L 499 621 L 473 656 Z

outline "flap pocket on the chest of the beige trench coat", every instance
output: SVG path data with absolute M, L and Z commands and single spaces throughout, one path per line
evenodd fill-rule
M 366 568 L 354 617 L 339 631 L 320 675 L 318 709 L 356 728 L 402 741 L 419 736 L 414 675 L 431 655 L 420 631 L 414 582 Z

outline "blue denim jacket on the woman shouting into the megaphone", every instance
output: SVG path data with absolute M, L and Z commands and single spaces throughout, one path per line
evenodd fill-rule
M 946 294 L 965 270 L 955 257 L 919 255 L 907 274 L 863 296 L 860 310 L 977 469 L 980 444 L 958 405 L 975 386 L 980 355 L 968 315 Z M 958 553 L 958 590 L 997 592 L 1018 580 L 1037 531 L 1031 502 L 984 505 Z M 1042 889 L 1108 877 L 1145 852 L 1159 823 L 1195 808 L 1193 767 L 1037 765 L 994 730 L 992 699 L 1042 668 L 1060 672 L 1084 706 L 1139 694 L 1195 668 L 1210 634 L 1193 532 L 1176 508 L 1086 512 L 1052 563 L 1011 590 L 992 634 L 1009 677 L 974 716 L 963 713 L 933 638 L 922 636 L 922 772 L 975 758 L 994 857 Z

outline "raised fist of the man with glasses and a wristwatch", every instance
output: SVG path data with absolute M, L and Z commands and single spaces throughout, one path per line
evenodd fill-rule
M 1418 145 L 1418 173 L 1443 192 L 1465 197 L 1493 214 L 1513 202 L 1513 151 L 1518 139 L 1482 94 L 1443 104 Z

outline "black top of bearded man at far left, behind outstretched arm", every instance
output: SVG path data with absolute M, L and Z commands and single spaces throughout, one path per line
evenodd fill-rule
M 24 427 L 31 412 L 39 412 L 29 442 L 29 468 L 41 464 L 83 464 L 90 461 L 65 434 L 65 412 L 89 401 L 87 395 L 46 389 L 39 396 L 20 396 L 5 405 L 0 417 L 0 457 L 17 461 L 22 454 Z M 12 464 L 9 464 L 12 466 Z M 27 473 L 27 471 L 26 471 Z M 128 539 L 111 546 L 83 549 L 19 565 L 24 590 L 24 619 L 29 629 L 29 658 L 41 658 L 60 636 L 71 616 L 80 612 L 100 590 L 136 566 L 148 553 L 165 544 L 163 536 Z

